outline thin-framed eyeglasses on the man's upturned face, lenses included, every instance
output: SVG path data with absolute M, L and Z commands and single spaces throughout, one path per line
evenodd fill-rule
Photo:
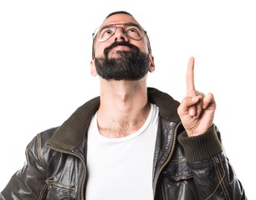
M 137 41 L 141 40 L 146 35 L 146 31 L 136 23 L 115 23 L 97 28 L 92 34 L 92 37 L 98 42 L 105 42 L 115 35 L 117 28 L 121 28 L 126 37 Z

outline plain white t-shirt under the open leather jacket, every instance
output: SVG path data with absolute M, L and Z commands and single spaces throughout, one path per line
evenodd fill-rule
M 97 113 L 88 132 L 87 200 L 153 199 L 152 168 L 158 107 L 143 126 L 123 138 L 105 138 L 97 127 Z

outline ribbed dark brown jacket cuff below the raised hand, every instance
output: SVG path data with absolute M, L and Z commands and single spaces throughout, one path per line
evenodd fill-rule
M 186 131 L 178 136 L 188 162 L 207 160 L 223 152 L 222 144 L 218 139 L 214 125 L 207 133 L 195 137 L 188 137 Z

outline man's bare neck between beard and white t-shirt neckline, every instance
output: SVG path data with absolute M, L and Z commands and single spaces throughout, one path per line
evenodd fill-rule
M 101 81 L 98 128 L 108 138 L 135 133 L 150 112 L 146 82 Z

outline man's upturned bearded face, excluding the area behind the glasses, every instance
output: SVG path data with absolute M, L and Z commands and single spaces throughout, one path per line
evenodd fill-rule
M 109 24 L 135 23 L 126 14 L 107 18 L 102 26 Z M 150 70 L 152 60 L 148 54 L 146 37 L 134 40 L 125 36 L 122 25 L 104 42 L 95 40 L 95 59 L 91 62 L 100 77 L 106 80 L 140 80 Z

